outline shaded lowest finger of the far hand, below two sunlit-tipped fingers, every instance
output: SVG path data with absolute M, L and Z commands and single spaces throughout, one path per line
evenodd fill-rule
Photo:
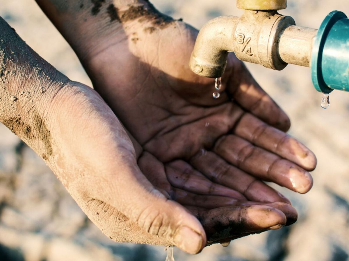
M 214 152 L 198 153 L 191 160 L 193 167 L 208 179 L 242 193 L 248 200 L 258 202 L 291 202 L 281 193 L 270 188 L 246 172 L 230 165 Z

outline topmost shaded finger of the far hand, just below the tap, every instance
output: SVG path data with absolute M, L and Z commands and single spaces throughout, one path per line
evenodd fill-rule
M 291 126 L 290 119 L 258 85 L 245 65 L 235 62 L 233 70 L 235 72 L 231 74 L 227 89 L 235 101 L 261 120 L 287 131 Z

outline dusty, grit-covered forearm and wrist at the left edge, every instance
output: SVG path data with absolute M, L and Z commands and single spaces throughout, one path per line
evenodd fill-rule
M 52 154 L 50 104 L 68 82 L 0 18 L 0 122 L 43 158 Z

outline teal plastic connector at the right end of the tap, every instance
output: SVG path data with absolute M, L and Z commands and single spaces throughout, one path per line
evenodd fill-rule
M 322 22 L 313 45 L 311 74 L 319 92 L 349 92 L 349 19 L 343 12 L 333 11 Z

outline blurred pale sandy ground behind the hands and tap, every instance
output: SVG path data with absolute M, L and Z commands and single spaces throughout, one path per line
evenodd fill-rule
M 220 15 L 242 14 L 235 1 L 151 1 L 162 12 L 196 28 Z M 332 10 L 349 15 L 343 0 L 288 0 L 282 14 L 297 25 L 319 28 Z M 91 86 L 72 49 L 34 0 L 1 1 L 0 16 L 45 60 L 70 79 Z M 348 32 L 345 32 L 348 34 Z M 318 157 L 314 187 L 306 195 L 283 188 L 299 213 L 291 227 L 248 236 L 229 247 L 213 245 L 199 255 L 178 249 L 188 261 L 346 261 L 349 255 L 349 93 L 334 91 L 331 106 L 310 69 L 288 65 L 281 72 L 247 64 L 263 88 L 289 114 L 290 134 Z M 0 260 L 14 261 L 163 261 L 163 246 L 118 244 L 105 237 L 76 205 L 45 163 L 0 124 Z

